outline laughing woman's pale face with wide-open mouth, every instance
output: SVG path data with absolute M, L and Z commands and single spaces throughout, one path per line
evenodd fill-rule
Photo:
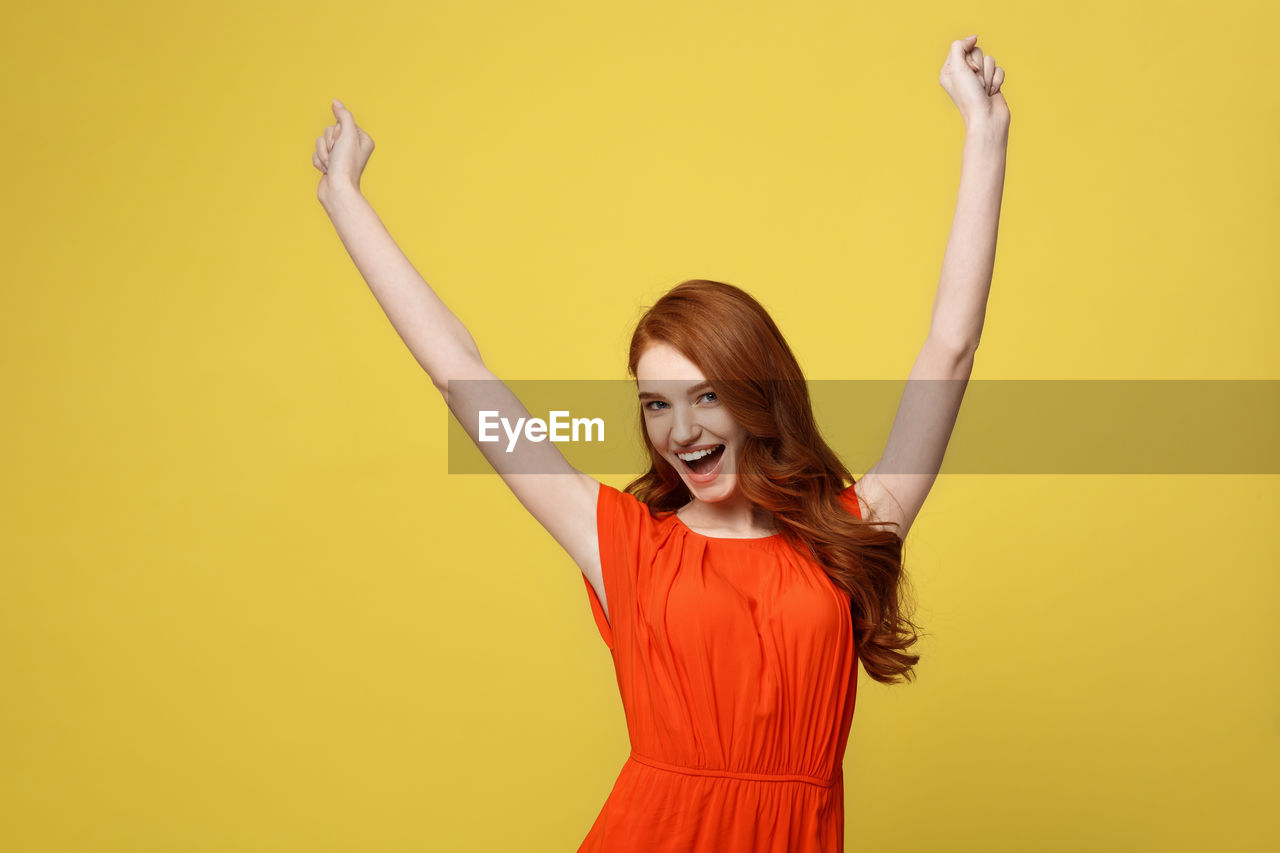
M 649 441 L 690 493 L 710 503 L 732 496 L 746 430 L 698 366 L 666 343 L 654 343 L 636 362 L 636 389 Z

